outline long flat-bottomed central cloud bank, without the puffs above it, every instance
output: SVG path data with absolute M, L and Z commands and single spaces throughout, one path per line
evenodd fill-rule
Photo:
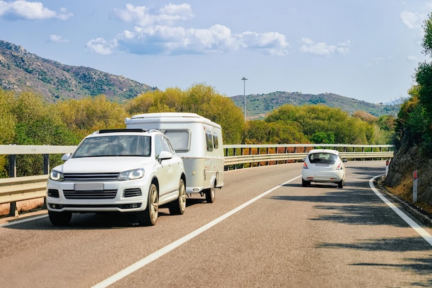
M 206 29 L 171 26 L 135 27 L 116 38 L 117 43 L 136 54 L 184 54 L 229 52 L 239 49 L 261 50 L 270 55 L 286 55 L 289 44 L 277 32 L 244 32 L 233 35 L 223 25 Z

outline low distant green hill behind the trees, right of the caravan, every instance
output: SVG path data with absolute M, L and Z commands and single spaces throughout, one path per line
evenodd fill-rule
M 244 109 L 244 95 L 231 97 L 236 106 Z M 302 94 L 301 92 L 273 92 L 268 94 L 246 95 L 246 117 L 249 119 L 262 118 L 266 114 L 279 108 L 282 105 L 291 104 L 294 106 L 323 104 L 329 107 L 341 108 L 352 114 L 354 111 L 366 111 L 377 117 L 382 115 L 397 116 L 400 105 L 373 104 L 362 100 L 333 93 Z

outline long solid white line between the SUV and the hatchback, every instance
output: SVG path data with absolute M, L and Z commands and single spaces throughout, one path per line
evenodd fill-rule
M 188 235 L 186 235 L 182 238 L 179 238 L 178 240 L 175 240 L 171 244 L 166 245 L 166 247 L 163 247 L 163 248 L 159 249 L 158 251 L 151 253 L 149 256 L 142 258 L 138 262 L 135 262 L 134 264 L 130 265 L 129 267 L 126 267 L 125 269 L 115 273 L 114 275 L 110 276 L 109 278 L 106 278 L 104 281 L 99 282 L 97 285 L 93 286 L 92 288 L 105 288 L 105 287 L 108 287 L 108 286 L 114 284 L 118 280 L 120 280 L 120 279 L 130 275 L 131 273 L 137 271 L 138 269 L 141 269 L 142 267 L 148 265 L 150 262 L 153 262 L 154 260 L 157 260 L 161 256 L 164 256 L 166 253 L 173 251 L 174 249 L 179 247 L 181 244 L 184 244 L 184 243 L 188 242 L 189 240 L 191 240 L 192 238 L 195 238 L 195 236 L 198 236 L 199 234 L 210 229 L 211 227 L 215 226 L 219 222 L 222 222 L 226 218 L 230 217 L 230 215 L 233 215 L 233 214 L 237 213 L 238 211 L 244 209 L 244 207 L 247 207 L 248 205 L 252 204 L 253 202 L 259 200 L 259 198 L 263 198 L 265 195 L 267 195 L 267 194 L 275 191 L 276 189 L 284 186 L 284 184 L 288 184 L 289 182 L 293 182 L 294 180 L 297 180 L 300 177 L 302 177 L 302 176 L 301 175 L 297 176 L 291 180 L 288 180 L 282 184 L 279 184 L 279 185 L 273 187 L 270 190 L 265 191 L 264 193 L 262 193 L 260 195 L 257 195 L 257 197 L 253 198 L 252 200 L 249 200 L 248 202 L 245 202 L 244 204 L 240 205 L 239 207 L 229 211 L 228 213 L 225 213 L 224 215 L 220 216 L 219 218 L 216 218 L 215 220 L 208 222 L 204 226 L 196 229 L 195 231 L 188 233 Z

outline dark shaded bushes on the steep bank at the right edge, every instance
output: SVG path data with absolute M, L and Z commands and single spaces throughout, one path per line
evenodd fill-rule
M 424 21 L 423 53 L 432 58 L 432 15 Z M 413 172 L 418 171 L 418 202 L 432 213 L 432 61 L 424 61 L 415 70 L 416 84 L 397 114 L 395 157 L 384 180 L 386 189 L 413 202 Z

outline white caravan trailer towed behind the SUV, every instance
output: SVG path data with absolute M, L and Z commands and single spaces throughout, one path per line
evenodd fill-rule
M 215 189 L 224 185 L 222 128 L 195 113 L 147 113 L 126 118 L 126 128 L 158 129 L 184 162 L 186 193 L 215 201 Z

